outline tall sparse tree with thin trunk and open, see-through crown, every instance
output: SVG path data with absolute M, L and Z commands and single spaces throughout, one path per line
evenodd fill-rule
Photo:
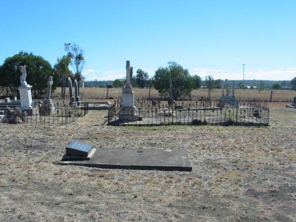
M 68 56 L 71 58 L 71 65 L 74 69 L 75 79 L 78 82 L 84 79 L 81 72 L 85 66 L 84 51 L 75 43 L 65 43 L 65 51 L 68 53 Z

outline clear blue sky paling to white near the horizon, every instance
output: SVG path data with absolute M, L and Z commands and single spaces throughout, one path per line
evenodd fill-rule
M 20 50 L 54 65 L 85 51 L 87 80 L 149 75 L 176 61 L 202 78 L 296 76 L 295 0 L 0 0 L 0 64 Z M 135 72 L 134 72 L 135 73 Z

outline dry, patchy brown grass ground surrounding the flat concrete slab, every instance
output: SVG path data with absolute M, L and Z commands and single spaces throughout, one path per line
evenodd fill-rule
M 0 124 L 0 221 L 296 221 L 296 109 L 269 127 Z M 183 148 L 192 172 L 56 162 L 72 140 L 95 148 Z

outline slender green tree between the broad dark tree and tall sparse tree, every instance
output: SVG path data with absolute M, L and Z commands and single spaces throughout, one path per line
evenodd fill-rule
M 62 90 L 62 97 L 65 99 L 66 86 L 68 85 L 68 77 L 72 76 L 72 72 L 69 70 L 71 58 L 68 55 L 57 59 L 57 63 L 54 65 L 54 73 L 59 78 L 59 85 Z M 73 77 L 73 76 L 72 76 Z

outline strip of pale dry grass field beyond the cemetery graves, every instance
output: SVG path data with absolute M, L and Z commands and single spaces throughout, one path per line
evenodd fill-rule
M 149 89 L 140 89 L 140 88 L 133 88 L 135 92 L 135 98 L 142 98 L 148 97 Z M 74 89 L 73 89 L 74 92 Z M 231 93 L 231 92 L 230 92 Z M 67 99 L 69 98 L 69 90 L 66 91 Z M 196 89 L 192 91 L 192 95 L 197 96 L 204 96 L 208 97 L 208 90 L 207 89 Z M 230 94 L 231 95 L 231 94 Z M 105 99 L 107 96 L 107 88 L 80 88 L 80 98 L 86 99 Z M 117 98 L 121 96 L 121 88 L 111 88 L 109 89 L 108 98 Z M 158 98 L 158 92 L 155 89 L 151 89 L 150 96 L 154 98 Z M 214 89 L 211 93 L 211 98 L 217 99 L 221 96 L 221 89 Z M 296 96 L 295 91 L 290 90 L 273 90 L 273 102 L 291 102 L 293 101 L 294 96 Z M 53 98 L 59 99 L 61 98 L 61 88 L 57 88 L 52 95 Z M 270 90 L 243 90 L 238 89 L 236 90 L 236 97 L 237 98 L 258 98 L 258 99 L 270 99 Z

